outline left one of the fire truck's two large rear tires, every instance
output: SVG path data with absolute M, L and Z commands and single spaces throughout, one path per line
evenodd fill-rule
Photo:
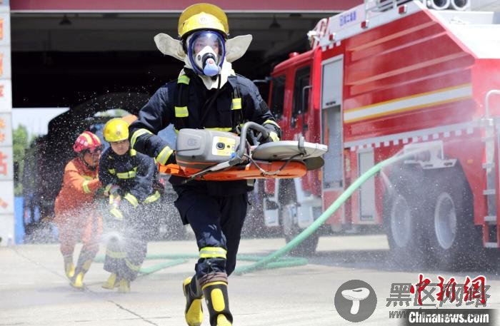
M 384 228 L 396 265 L 404 268 L 428 265 L 425 208 L 405 186 L 384 196 Z M 419 205 L 420 204 L 420 205 Z

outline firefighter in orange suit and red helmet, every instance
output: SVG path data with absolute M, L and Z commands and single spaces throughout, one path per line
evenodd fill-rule
M 59 230 L 64 272 L 70 285 L 84 288 L 84 275 L 99 251 L 102 219 L 97 214 L 94 195 L 101 187 L 97 178 L 97 166 L 102 151 L 99 138 L 90 131 L 81 133 L 73 146 L 76 158 L 64 168 L 64 178 L 54 203 L 54 222 Z M 73 252 L 76 242 L 84 243 L 76 263 Z

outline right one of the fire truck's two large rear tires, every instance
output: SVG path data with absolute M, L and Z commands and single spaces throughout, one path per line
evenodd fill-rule
M 439 268 L 474 268 L 484 261 L 481 228 L 474 226 L 469 186 L 456 174 L 441 174 L 431 194 L 429 244 Z

